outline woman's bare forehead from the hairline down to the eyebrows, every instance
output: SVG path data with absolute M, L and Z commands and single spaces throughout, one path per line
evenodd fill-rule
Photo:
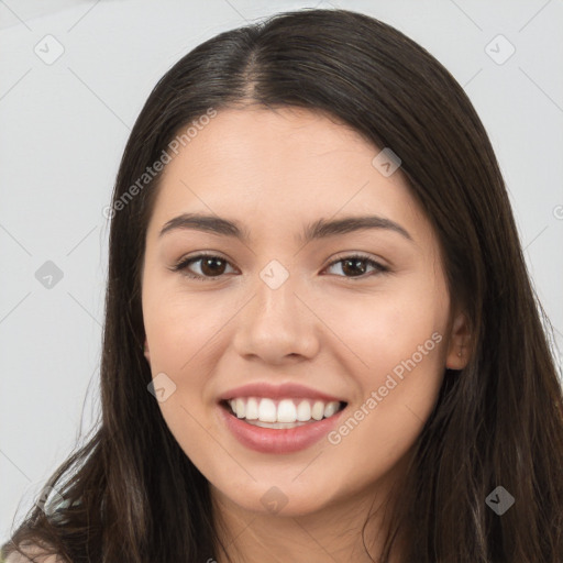
M 166 165 L 152 224 L 198 211 L 279 234 L 294 223 L 297 231 L 301 222 L 372 212 L 409 231 L 428 229 L 400 168 L 386 177 L 374 166 L 379 153 L 320 112 L 221 110 Z

